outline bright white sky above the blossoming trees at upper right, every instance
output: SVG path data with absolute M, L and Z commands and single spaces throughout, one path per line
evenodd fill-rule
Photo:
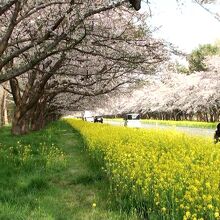
M 160 27 L 155 36 L 178 46 L 184 52 L 191 52 L 199 44 L 214 43 L 220 39 L 220 22 L 192 0 L 151 0 L 150 24 Z M 208 5 L 220 14 L 220 4 Z M 142 10 L 148 10 L 145 4 Z

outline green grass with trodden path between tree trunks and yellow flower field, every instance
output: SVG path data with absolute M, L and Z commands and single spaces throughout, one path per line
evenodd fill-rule
M 42 142 L 49 147 L 54 144 L 62 149 L 68 162 L 65 167 L 43 169 L 43 160 L 36 152 L 25 166 L 2 160 L 0 219 L 135 219 L 110 210 L 108 182 L 90 160 L 80 134 L 69 125 L 56 122 L 22 138 L 11 136 L 9 128 L 0 129 L 0 148 L 9 149 L 18 141 L 30 144 L 31 152 Z M 0 151 L 1 156 L 3 153 Z

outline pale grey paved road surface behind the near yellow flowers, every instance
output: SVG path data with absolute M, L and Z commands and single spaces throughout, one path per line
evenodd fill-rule
M 106 121 L 105 123 L 116 125 L 116 126 L 123 126 L 123 122 L 118 121 Z M 169 126 L 169 125 L 159 125 L 159 124 L 146 124 L 142 123 L 142 128 L 158 128 L 158 129 L 172 129 L 176 131 L 185 132 L 187 134 L 191 135 L 199 135 L 199 136 L 206 136 L 213 138 L 214 135 L 214 129 L 208 129 L 208 128 L 191 128 L 191 127 L 176 127 L 176 126 Z

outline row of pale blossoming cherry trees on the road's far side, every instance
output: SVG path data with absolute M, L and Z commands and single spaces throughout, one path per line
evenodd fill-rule
M 139 112 L 144 118 L 171 120 L 220 120 L 220 57 L 206 59 L 206 72 L 190 75 L 164 71 L 129 95 L 108 101 L 112 115 Z

